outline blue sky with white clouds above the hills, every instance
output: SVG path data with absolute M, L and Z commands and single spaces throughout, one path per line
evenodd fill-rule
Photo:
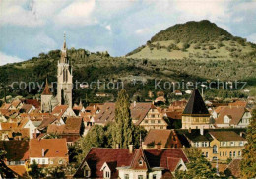
M 160 30 L 210 20 L 256 43 L 256 0 L 0 0 L 0 66 L 60 49 L 124 56 Z

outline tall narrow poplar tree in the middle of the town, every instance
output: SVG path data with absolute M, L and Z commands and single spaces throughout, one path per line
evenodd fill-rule
M 115 130 L 113 130 L 113 145 L 128 148 L 133 143 L 134 126 L 131 118 L 129 96 L 125 89 L 118 93 L 115 103 Z

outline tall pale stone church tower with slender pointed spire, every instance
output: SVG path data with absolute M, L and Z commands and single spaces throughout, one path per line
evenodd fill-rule
M 57 100 L 59 105 L 68 105 L 72 108 L 72 89 L 73 89 L 73 75 L 72 68 L 69 64 L 66 35 L 64 34 L 64 43 L 61 50 L 61 57 L 58 61 L 58 87 Z

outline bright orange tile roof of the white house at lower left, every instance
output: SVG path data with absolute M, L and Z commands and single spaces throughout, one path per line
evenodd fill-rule
M 45 157 L 68 157 L 66 139 L 31 139 L 30 157 L 42 157 L 42 149 Z

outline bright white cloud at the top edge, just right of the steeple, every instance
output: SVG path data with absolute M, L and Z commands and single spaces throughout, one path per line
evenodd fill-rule
M 74 1 L 72 4 L 62 9 L 55 17 L 55 23 L 64 26 L 86 26 L 96 24 L 96 18 L 92 17 L 95 9 L 95 0 Z

